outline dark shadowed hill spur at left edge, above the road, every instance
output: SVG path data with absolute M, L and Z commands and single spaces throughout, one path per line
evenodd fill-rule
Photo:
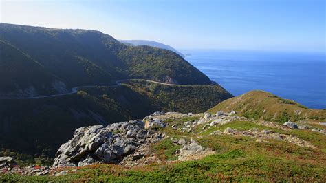
M 65 84 L 13 45 L 0 40 L 0 97 L 67 92 Z

